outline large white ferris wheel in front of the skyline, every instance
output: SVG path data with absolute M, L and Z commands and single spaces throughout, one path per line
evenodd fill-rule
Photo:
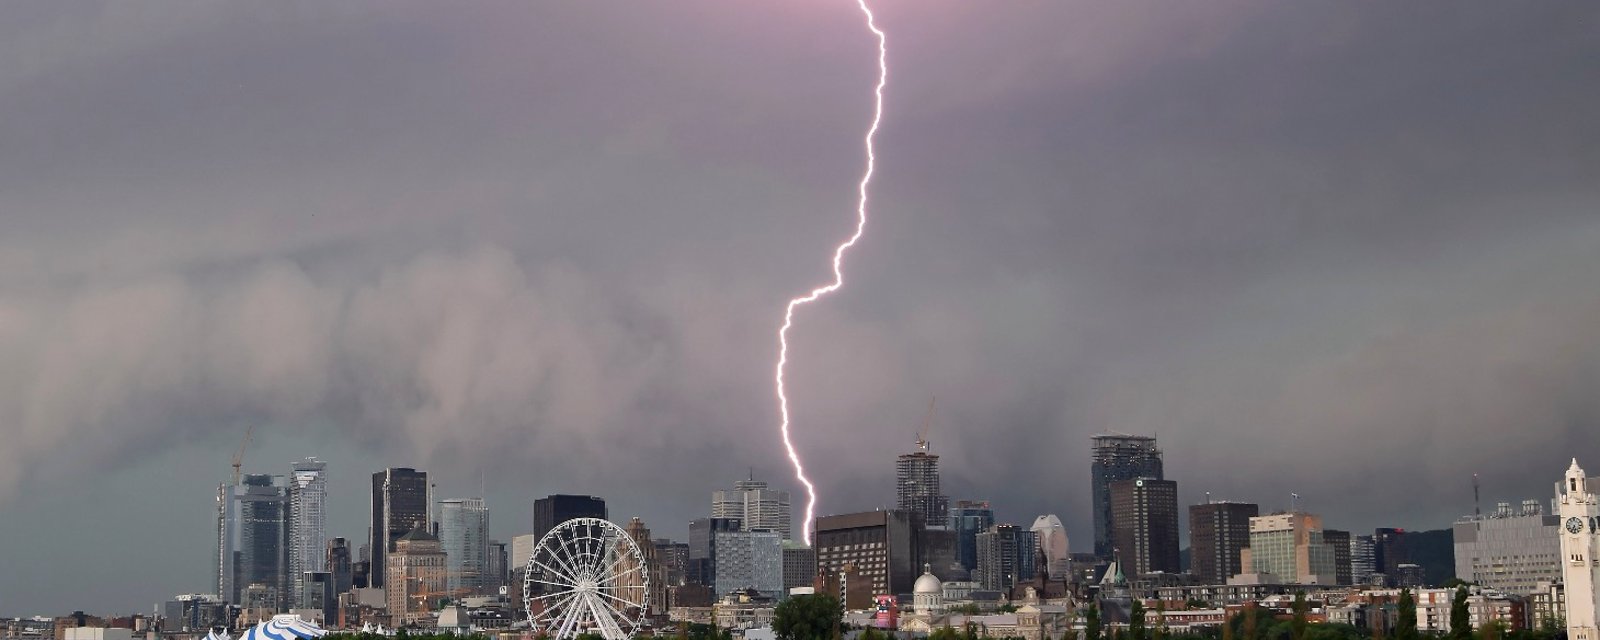
M 627 640 L 650 611 L 645 555 L 608 520 L 557 525 L 539 538 L 525 576 L 528 622 L 557 640 L 586 632 Z

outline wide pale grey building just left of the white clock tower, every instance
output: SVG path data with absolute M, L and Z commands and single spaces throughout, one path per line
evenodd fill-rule
M 1451 526 L 1456 578 L 1504 594 L 1530 597 L 1562 579 L 1562 518 L 1539 501 L 1520 510 L 1499 502 L 1493 514 L 1467 515 Z

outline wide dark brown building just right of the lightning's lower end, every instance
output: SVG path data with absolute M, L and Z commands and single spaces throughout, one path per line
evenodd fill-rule
M 816 571 L 834 579 L 851 566 L 872 594 L 909 594 L 922 574 L 915 520 L 899 509 L 816 518 Z

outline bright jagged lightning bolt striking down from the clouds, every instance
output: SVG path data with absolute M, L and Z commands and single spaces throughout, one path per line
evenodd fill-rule
M 862 141 L 867 149 L 867 168 L 862 171 L 861 184 L 856 187 L 856 192 L 859 194 L 856 205 L 856 232 L 834 250 L 834 282 L 789 301 L 789 306 L 784 307 L 784 325 L 778 330 L 778 374 L 774 379 L 778 381 L 778 411 L 782 416 L 782 422 L 778 430 L 784 437 L 784 450 L 789 451 L 789 462 L 795 466 L 795 477 L 800 478 L 802 485 L 805 485 L 805 520 L 802 520 L 803 523 L 800 525 L 800 531 L 806 544 L 811 544 L 811 520 L 816 512 L 816 485 L 805 477 L 805 466 L 800 464 L 800 453 L 795 451 L 795 443 L 789 437 L 789 395 L 784 394 L 784 365 L 789 363 L 789 328 L 794 326 L 795 322 L 795 307 L 814 302 L 816 299 L 834 293 L 845 285 L 845 272 L 842 269 L 845 251 L 854 246 L 856 240 L 861 240 L 861 234 L 867 230 L 867 184 L 872 182 L 872 171 L 877 163 L 877 157 L 872 154 L 872 138 L 878 134 L 878 123 L 883 122 L 883 85 L 890 80 L 888 45 L 883 37 L 883 30 L 880 30 L 877 22 L 872 19 L 872 8 L 867 6 L 867 0 L 856 0 L 856 5 L 861 6 L 861 13 L 867 19 L 867 29 L 878 38 L 878 85 L 872 90 L 872 126 L 867 128 L 867 134 Z

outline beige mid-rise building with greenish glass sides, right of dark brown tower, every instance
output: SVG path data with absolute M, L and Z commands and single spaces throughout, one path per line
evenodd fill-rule
M 1285 584 L 1334 584 L 1334 552 L 1322 538 L 1322 517 L 1272 514 L 1250 518 L 1250 573 Z

